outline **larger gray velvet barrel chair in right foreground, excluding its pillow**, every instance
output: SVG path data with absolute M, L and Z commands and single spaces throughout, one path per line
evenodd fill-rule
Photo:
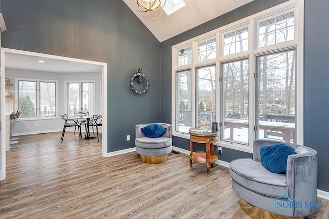
M 240 158 L 230 163 L 232 187 L 240 197 L 240 206 L 253 218 L 312 214 L 317 208 L 317 152 L 285 143 L 297 154 L 288 156 L 286 174 L 273 173 L 262 165 L 260 148 L 276 143 L 283 142 L 254 140 L 253 159 Z

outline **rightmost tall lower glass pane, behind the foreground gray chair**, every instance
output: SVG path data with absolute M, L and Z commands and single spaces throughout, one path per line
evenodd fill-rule
M 296 51 L 257 58 L 259 138 L 295 143 Z

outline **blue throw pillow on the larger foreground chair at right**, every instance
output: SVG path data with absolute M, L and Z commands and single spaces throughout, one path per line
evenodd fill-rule
M 290 154 L 297 154 L 295 150 L 285 144 L 274 144 L 261 147 L 262 165 L 273 173 L 285 174 L 287 160 Z

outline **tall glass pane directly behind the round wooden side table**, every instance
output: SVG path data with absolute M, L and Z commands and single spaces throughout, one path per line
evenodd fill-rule
M 216 112 L 216 67 L 196 69 L 198 127 L 211 129 Z

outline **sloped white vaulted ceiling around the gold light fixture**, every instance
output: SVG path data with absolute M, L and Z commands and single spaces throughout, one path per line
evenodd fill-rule
M 160 11 L 141 12 L 136 0 L 123 2 L 136 14 L 143 24 L 162 42 L 200 24 L 239 8 L 253 0 L 184 0 L 186 6 L 167 15 Z M 168 2 L 166 4 L 169 4 Z

